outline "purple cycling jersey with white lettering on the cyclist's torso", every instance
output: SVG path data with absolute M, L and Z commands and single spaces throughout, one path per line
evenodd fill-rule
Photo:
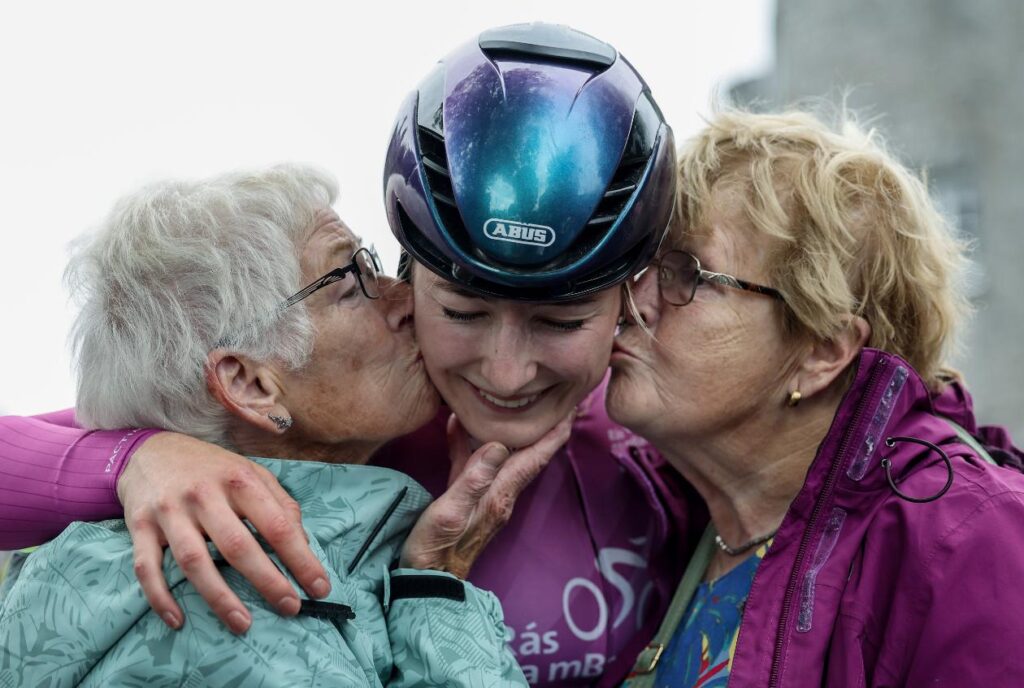
M 695 543 L 683 530 L 675 474 L 608 419 L 606 384 L 580 404 L 571 437 L 469 574 L 502 600 L 509 643 L 532 685 L 617 685 L 657 629 Z M 449 413 L 374 463 L 443 492 Z

